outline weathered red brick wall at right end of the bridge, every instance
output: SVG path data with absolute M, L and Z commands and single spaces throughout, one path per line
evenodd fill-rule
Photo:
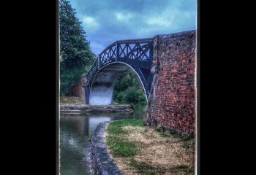
M 195 133 L 196 31 L 154 37 L 153 66 L 160 66 L 148 121 Z

